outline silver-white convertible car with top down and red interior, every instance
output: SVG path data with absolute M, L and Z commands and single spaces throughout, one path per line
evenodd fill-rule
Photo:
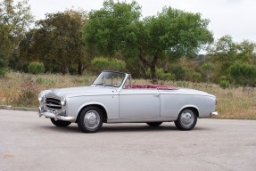
M 168 85 L 132 85 L 128 73 L 103 71 L 90 86 L 45 90 L 38 95 L 39 116 L 55 126 L 78 123 L 95 133 L 103 123 L 175 122 L 180 130 L 194 128 L 197 118 L 217 115 L 216 97 Z

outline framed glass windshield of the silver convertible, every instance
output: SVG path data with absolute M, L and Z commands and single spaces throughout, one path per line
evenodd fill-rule
M 125 78 L 124 73 L 103 71 L 94 81 L 93 85 L 119 87 Z

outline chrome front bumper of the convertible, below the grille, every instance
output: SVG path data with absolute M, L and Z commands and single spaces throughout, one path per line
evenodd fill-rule
M 39 107 L 38 115 L 39 117 L 45 116 L 45 118 L 54 118 L 54 120 L 63 120 L 63 121 L 69 121 L 69 122 L 75 121 L 74 117 L 65 117 L 60 115 L 60 112 L 58 112 L 58 110 L 45 111 L 45 110 L 42 110 L 41 107 Z

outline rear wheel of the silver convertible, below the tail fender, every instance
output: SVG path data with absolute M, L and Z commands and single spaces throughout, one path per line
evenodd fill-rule
M 178 129 L 187 131 L 193 129 L 196 122 L 196 112 L 191 109 L 185 109 L 179 113 L 178 119 L 174 123 Z

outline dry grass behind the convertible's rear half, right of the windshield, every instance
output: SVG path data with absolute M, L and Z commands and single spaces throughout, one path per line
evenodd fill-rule
M 150 83 L 149 80 L 135 80 L 136 83 Z M 215 118 L 229 119 L 256 119 L 256 88 L 220 88 L 219 85 L 206 83 L 191 83 L 185 81 L 162 81 L 161 85 L 176 85 L 193 88 L 214 94 L 217 97 L 217 111 L 219 116 Z

